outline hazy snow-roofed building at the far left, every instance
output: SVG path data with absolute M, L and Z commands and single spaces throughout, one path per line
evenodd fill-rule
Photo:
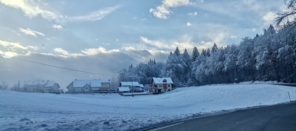
M 44 81 L 44 80 L 35 80 L 35 81 L 24 81 L 20 82 L 21 92 L 57 92 L 60 91 L 59 84 L 55 81 Z

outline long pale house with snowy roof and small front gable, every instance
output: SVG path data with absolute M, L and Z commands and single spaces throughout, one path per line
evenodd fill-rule
M 110 79 L 75 79 L 67 89 L 69 92 L 110 90 Z

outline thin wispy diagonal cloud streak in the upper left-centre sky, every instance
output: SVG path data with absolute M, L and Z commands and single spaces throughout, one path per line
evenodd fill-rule
M 110 14 L 111 12 L 115 11 L 119 7 L 120 6 L 109 7 L 102 10 L 91 12 L 85 16 L 74 16 L 74 17 L 68 17 L 68 18 L 74 21 L 96 21 L 104 18 L 107 14 Z

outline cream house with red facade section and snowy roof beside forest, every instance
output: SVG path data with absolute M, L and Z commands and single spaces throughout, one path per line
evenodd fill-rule
M 173 87 L 175 84 L 170 77 L 152 77 L 152 81 L 149 85 L 151 86 L 149 89 L 150 92 L 158 93 L 168 92 L 176 88 Z

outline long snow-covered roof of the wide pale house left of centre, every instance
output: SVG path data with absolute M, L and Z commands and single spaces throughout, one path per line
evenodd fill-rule
M 73 80 L 73 87 L 83 87 L 86 84 L 88 84 L 90 87 L 102 87 L 101 79 L 74 79 Z

